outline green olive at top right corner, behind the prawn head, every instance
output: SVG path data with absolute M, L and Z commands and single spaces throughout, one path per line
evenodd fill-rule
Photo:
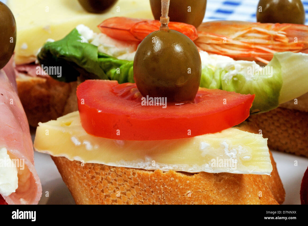
M 260 0 L 257 22 L 305 24 L 305 10 L 301 0 Z

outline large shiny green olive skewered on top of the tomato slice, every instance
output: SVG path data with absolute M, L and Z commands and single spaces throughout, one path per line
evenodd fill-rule
M 133 68 L 144 97 L 193 102 L 200 86 L 200 54 L 193 41 L 178 31 L 154 31 L 145 37 L 137 48 Z

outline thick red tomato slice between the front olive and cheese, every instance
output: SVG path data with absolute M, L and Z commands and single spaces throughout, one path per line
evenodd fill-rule
M 216 133 L 249 116 L 254 95 L 199 88 L 195 103 L 141 105 L 135 83 L 86 80 L 77 88 L 88 134 L 116 140 L 169 140 Z M 168 101 L 168 100 L 167 100 Z

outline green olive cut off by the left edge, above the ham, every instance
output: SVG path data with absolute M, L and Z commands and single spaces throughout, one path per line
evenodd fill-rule
M 16 44 L 15 18 L 4 3 L 0 2 L 0 69 L 12 57 Z

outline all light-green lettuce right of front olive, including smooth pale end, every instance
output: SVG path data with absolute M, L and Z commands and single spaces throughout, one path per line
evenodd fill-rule
M 244 70 L 233 73 L 235 64 Z M 205 66 L 200 86 L 255 94 L 251 113 L 269 111 L 308 92 L 308 54 L 275 53 L 259 73 L 254 73 L 253 67 L 257 64 L 248 61 L 233 61 L 218 65 L 215 69 Z

